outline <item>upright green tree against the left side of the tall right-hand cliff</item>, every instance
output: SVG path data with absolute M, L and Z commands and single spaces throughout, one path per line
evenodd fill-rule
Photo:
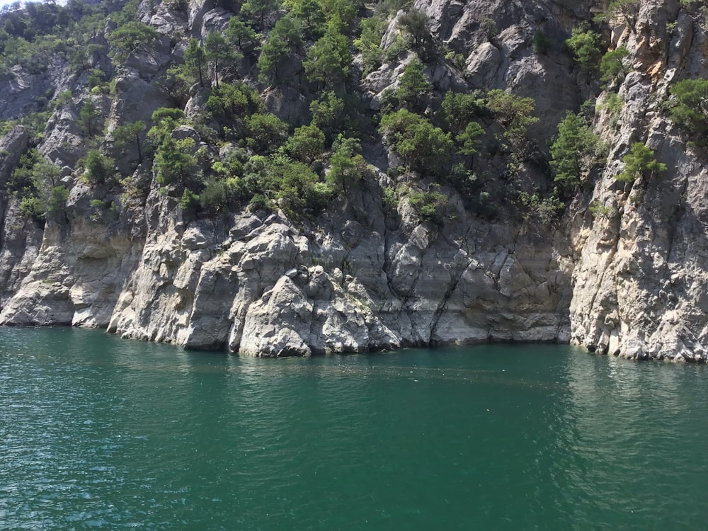
M 558 125 L 558 136 L 550 148 L 554 181 L 569 192 L 577 188 L 598 161 L 599 144 L 600 138 L 586 118 L 569 111 Z

